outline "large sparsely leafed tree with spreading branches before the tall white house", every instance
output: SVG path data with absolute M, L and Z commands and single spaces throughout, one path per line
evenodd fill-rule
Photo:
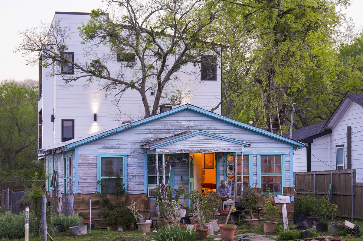
M 136 90 L 146 118 L 157 114 L 160 106 L 180 105 L 185 92 L 176 87 L 178 72 L 190 63 L 196 67 L 201 55 L 211 54 L 208 26 L 217 11 L 208 8 L 206 0 L 111 0 L 107 10 L 92 10 L 90 20 L 79 27 L 86 61 L 66 54 L 72 33 L 57 21 L 22 31 L 23 42 L 16 51 L 39 53 L 40 63 L 56 65 L 51 75 L 61 75 L 66 83 L 101 79 L 106 95 L 118 97 L 126 90 Z M 100 46 L 109 51 L 100 53 Z M 117 71 L 107 64 L 116 59 Z M 38 59 L 28 61 L 36 64 Z M 74 75 L 62 74 L 61 69 L 68 67 L 74 69 Z M 152 103 L 148 90 L 155 93 Z

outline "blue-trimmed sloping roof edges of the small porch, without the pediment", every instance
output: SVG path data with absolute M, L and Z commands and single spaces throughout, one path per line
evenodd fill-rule
M 190 138 L 192 136 L 196 136 L 196 135 L 210 136 L 210 137 L 213 137 L 213 138 L 216 138 L 216 139 L 225 140 L 225 141 L 233 142 L 233 143 L 236 143 L 236 144 L 244 145 L 246 147 L 249 147 L 251 145 L 251 143 L 248 143 L 248 142 L 239 141 L 239 140 L 236 140 L 236 139 L 232 139 L 232 138 L 212 134 L 212 133 L 209 133 L 209 132 L 206 132 L 206 131 L 184 131 L 184 132 L 180 132 L 180 133 L 178 133 L 176 135 L 168 136 L 166 138 L 161 138 L 161 139 L 153 141 L 151 143 L 144 144 L 141 147 L 150 148 L 152 150 L 152 149 L 162 147 L 164 145 L 174 143 L 176 141 L 188 139 L 188 138 Z

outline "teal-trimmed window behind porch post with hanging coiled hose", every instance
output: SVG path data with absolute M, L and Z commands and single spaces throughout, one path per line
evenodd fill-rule
M 228 164 L 234 164 L 234 155 L 228 155 L 227 156 Z M 241 155 L 237 155 L 237 172 L 236 176 L 233 178 L 228 178 L 227 182 L 228 184 L 234 183 L 234 178 L 237 178 L 237 195 L 241 194 L 241 180 L 242 180 L 242 162 L 241 162 Z M 250 179 L 250 173 L 249 173 L 249 155 L 243 156 L 243 190 L 247 190 L 249 187 L 249 179 Z M 234 191 L 234 185 L 231 186 L 231 191 L 233 194 Z

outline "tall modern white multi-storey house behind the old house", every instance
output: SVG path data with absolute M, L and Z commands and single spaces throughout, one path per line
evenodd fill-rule
M 68 46 L 66 54 L 80 63 L 86 61 L 87 49 L 81 44 L 78 27 L 88 20 L 89 13 L 56 12 L 53 18 L 53 23 L 59 21 L 60 26 L 70 28 L 72 34 L 71 39 L 66 40 Z M 100 46 L 97 51 L 110 52 L 105 46 Z M 135 61 L 137 63 L 137 60 Z M 118 72 L 121 68 L 116 57 L 106 65 L 114 72 Z M 208 71 L 213 72 L 212 77 L 208 75 L 207 80 L 201 80 L 203 64 L 201 65 L 185 65 L 174 74 L 178 75 L 178 81 L 171 81 L 164 90 L 169 94 L 180 90 L 185 95 L 182 104 L 190 103 L 205 110 L 211 110 L 221 100 L 220 61 L 217 59 L 212 68 L 207 67 Z M 90 84 L 86 78 L 81 78 L 65 85 L 61 76 L 50 76 L 51 70 L 52 66 L 39 69 L 39 148 L 144 118 L 143 103 L 140 94 L 135 90 L 127 90 L 123 93 L 116 106 L 115 99 L 118 97 L 114 96 L 115 93 L 108 93 L 106 98 L 105 92 L 99 90 L 102 88 L 102 80 Z M 124 77 L 128 78 L 133 74 L 134 72 L 130 70 L 129 73 L 124 74 Z M 148 93 L 150 105 L 154 100 L 154 91 L 151 88 Z M 162 103 L 168 102 L 165 100 L 163 102 L 162 99 L 160 104 Z M 174 107 L 168 106 L 159 111 L 168 110 L 168 108 Z M 221 114 L 221 108 L 214 112 Z

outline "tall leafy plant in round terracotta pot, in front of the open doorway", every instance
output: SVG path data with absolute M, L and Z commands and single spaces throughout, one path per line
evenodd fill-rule
M 207 198 L 205 195 L 201 195 L 199 190 L 193 190 L 190 192 L 189 200 L 191 200 L 195 206 L 195 215 L 198 219 L 198 224 L 194 225 L 198 233 L 197 237 L 199 239 L 204 239 L 207 237 L 209 230 L 209 227 L 205 225 L 206 220 L 208 219 Z

